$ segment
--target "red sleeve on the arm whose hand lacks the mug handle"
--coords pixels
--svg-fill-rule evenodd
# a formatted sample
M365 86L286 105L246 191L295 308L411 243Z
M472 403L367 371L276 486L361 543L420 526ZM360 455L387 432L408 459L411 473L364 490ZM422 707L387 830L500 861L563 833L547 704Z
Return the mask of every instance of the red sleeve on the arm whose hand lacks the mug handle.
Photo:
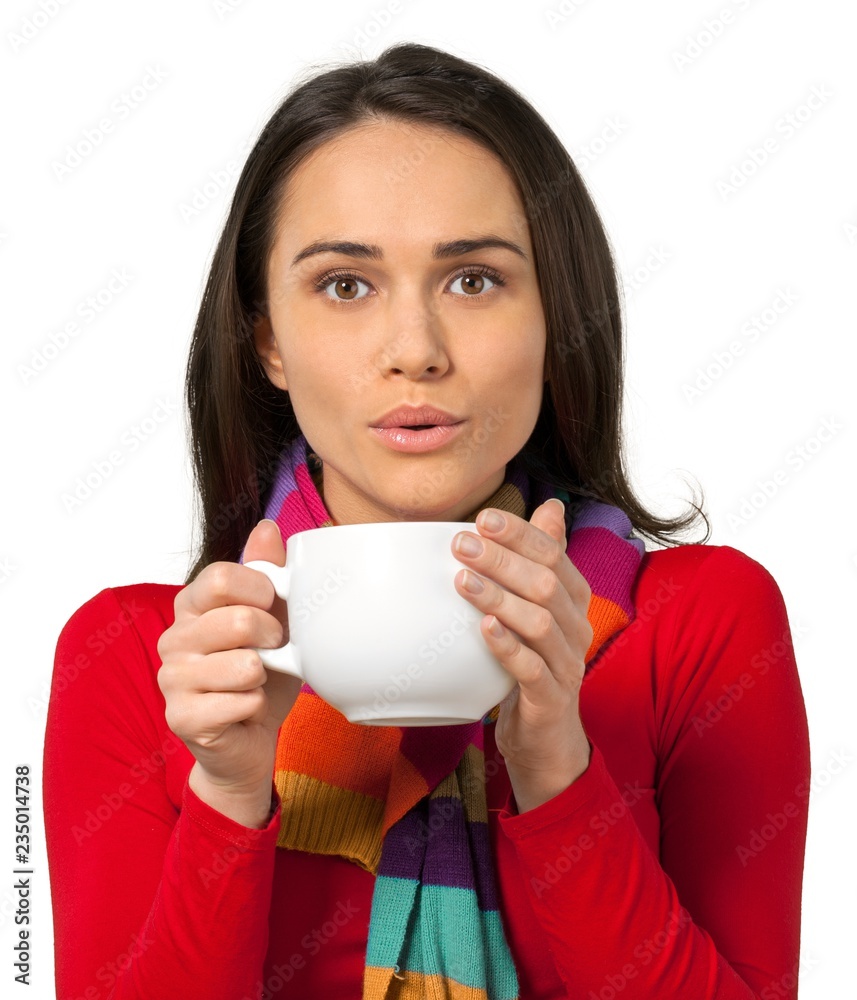
M794 1000L810 758L777 584L712 546L664 648L660 859L591 741L564 792L522 815L510 793L501 829L569 997Z

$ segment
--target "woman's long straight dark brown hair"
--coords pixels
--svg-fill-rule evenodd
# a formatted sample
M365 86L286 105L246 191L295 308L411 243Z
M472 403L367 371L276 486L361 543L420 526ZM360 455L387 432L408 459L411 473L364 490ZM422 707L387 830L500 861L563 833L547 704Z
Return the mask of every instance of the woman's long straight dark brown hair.
M457 132L495 153L518 185L547 327L542 407L520 459L531 476L628 515L663 545L697 517L646 510L623 459L623 328L616 267L586 186L550 126L509 84L473 63L414 43L311 76L277 107L251 150L217 244L185 378L202 536L185 583L235 561L264 513L283 447L299 433L289 395L262 366L254 322L267 314L266 272L281 195L320 145L368 121ZM418 147L415 145L415 160ZM411 165L412 168L412 165ZM401 165L405 179L409 165ZM389 178L388 178L389 180Z

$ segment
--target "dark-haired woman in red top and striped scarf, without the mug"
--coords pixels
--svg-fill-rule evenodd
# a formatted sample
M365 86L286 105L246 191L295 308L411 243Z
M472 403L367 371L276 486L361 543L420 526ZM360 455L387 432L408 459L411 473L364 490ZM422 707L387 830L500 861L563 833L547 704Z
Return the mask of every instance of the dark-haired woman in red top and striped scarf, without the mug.
M695 505L635 497L609 244L518 93L415 44L291 93L239 179L187 400L184 585L106 588L57 646L61 1000L797 995L783 599L741 552L676 542ZM517 682L500 706L352 725L263 666L288 609L244 562L430 520L481 542L454 583Z

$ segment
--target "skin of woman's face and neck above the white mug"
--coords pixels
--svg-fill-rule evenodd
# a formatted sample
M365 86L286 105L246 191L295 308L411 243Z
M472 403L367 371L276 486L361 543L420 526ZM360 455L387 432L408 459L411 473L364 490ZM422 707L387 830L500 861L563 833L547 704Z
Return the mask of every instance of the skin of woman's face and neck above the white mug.
M256 348L324 463L338 523L463 520L503 483L545 381L524 217L498 158L425 126L355 128L292 175ZM520 252L466 246L485 238ZM460 422L437 447L396 450L373 429L423 404Z

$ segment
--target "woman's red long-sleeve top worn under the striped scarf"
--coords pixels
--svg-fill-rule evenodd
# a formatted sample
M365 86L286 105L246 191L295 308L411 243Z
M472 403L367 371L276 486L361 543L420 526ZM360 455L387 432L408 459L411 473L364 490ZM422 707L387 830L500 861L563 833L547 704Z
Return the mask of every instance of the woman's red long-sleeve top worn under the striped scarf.
M44 809L59 1000L359 1000L374 876L190 790L156 644L181 589L102 590L56 650ZM521 1000L797 996L809 740L780 590L730 546L647 553L591 662L587 770L517 813L486 727Z

